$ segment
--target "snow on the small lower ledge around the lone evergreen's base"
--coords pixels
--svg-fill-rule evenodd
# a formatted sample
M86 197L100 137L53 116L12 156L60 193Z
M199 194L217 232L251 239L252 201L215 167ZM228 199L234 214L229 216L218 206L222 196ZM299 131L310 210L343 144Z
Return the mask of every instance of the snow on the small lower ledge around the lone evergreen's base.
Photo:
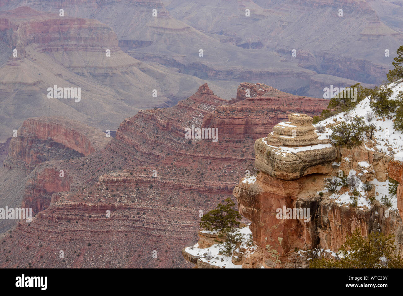
M252 235L252 232L249 229L249 225L243 227L243 228L238 228L235 230L234 233L239 233L242 235L242 243L241 247L245 249L249 249L250 253L255 251L257 249L256 245L252 246L247 246L247 242L249 240L249 235ZM210 232L208 230L204 230L205 232ZM211 232L213 233L213 232ZM218 254L220 252L220 244L216 243L212 245L211 247L205 248L205 249L200 249L199 244L196 243L195 245L191 247L185 248L185 251L193 256L198 256L202 259L202 261L209 263L210 265L214 266L219 266L222 268L242 268L242 265L235 265L232 263L231 256L226 256L226 255L220 255ZM235 249L237 251L238 249ZM210 255L211 259L209 260L207 257Z

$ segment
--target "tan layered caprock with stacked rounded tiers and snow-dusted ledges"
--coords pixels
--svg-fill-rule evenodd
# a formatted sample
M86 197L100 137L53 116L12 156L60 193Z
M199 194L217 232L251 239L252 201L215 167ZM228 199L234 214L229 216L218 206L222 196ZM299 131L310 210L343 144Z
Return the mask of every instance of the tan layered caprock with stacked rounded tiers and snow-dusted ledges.
M329 173L337 150L328 140L318 140L312 117L290 114L266 138L255 142L258 169L284 180L298 179L312 173Z

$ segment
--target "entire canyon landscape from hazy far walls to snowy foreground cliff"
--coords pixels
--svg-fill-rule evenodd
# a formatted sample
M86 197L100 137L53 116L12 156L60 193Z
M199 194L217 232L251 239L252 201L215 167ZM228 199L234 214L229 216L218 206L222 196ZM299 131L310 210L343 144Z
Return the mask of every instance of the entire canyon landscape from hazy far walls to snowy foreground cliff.
M368 98L312 124L325 87L382 82L402 12L395 0L2 0L0 208L34 218L0 219L0 267L307 268L337 260L355 229L395 234L403 255L393 118L367 117L379 129L354 148L331 128L372 112ZM56 85L80 99L51 98ZM194 128L216 138L186 137ZM344 176L357 196L328 189ZM199 228L226 198L243 217L229 256Z

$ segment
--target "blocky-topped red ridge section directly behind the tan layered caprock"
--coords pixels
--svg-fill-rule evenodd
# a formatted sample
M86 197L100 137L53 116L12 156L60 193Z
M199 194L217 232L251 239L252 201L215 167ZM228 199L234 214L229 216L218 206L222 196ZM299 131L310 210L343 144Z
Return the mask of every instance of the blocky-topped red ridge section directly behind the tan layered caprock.
M245 97L246 89L250 89L250 98ZM229 140L261 138L267 136L278 122L288 119L289 113L314 116L326 109L328 103L325 99L284 93L261 83L243 82L238 87L237 98L207 114L203 126L218 127L222 137Z

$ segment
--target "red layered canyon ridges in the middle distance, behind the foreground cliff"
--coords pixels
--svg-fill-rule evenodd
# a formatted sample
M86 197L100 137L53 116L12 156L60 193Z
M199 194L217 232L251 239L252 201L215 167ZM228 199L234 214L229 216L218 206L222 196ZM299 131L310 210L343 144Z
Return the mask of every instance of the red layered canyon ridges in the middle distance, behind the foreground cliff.
M253 171L254 140L290 109L316 115L327 102L246 82L228 101L203 84L174 107L126 118L114 138L72 119L27 119L10 141L0 196L34 218L0 221L0 266L191 267L181 249L196 240L200 213ZM186 127L216 124L218 142L184 137Z

